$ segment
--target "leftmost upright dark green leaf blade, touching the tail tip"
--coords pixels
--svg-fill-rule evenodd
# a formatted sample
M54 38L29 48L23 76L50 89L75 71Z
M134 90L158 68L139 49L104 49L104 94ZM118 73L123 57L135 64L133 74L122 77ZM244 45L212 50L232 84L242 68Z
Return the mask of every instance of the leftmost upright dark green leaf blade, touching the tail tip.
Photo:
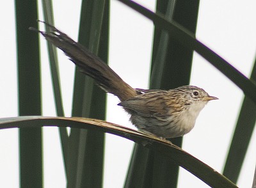
M29 27L38 27L37 1L15 1L17 30L17 70L19 114L41 114L41 80L38 35ZM42 187L42 129L19 130L20 187ZM36 166L36 168L35 168Z

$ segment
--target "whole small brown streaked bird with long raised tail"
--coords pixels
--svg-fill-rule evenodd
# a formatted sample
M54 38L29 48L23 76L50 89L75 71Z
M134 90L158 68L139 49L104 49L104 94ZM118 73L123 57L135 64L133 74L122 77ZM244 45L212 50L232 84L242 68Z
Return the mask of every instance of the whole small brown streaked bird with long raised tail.
M51 24L41 22L51 27L52 31L39 31L34 27L29 29L39 32L65 52L81 72L92 77L102 90L118 97L118 106L130 114L131 123L145 134L160 139L184 136L195 126L196 118L205 104L218 99L197 86L180 86L172 90L132 88L86 47Z

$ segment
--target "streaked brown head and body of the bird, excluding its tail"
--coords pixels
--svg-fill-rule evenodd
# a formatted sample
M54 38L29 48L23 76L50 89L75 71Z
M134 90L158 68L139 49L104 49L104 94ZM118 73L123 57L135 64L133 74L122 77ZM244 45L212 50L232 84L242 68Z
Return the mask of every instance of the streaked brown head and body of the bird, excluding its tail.
M182 86L168 91L137 91L142 94L118 105L132 111L130 120L140 130L164 138L187 134L193 129L205 104L217 99L196 86Z

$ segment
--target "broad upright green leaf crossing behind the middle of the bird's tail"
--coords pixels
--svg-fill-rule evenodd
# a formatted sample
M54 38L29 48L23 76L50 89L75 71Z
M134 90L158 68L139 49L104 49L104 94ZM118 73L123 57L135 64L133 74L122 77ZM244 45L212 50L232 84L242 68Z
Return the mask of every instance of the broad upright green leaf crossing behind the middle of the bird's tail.
M79 43L88 47L94 54L98 54L100 49L100 53L103 55L102 59L105 61L108 59L108 35L102 35L102 37L100 34L103 24L104 31L107 31L108 34L108 17L108 1L83 1ZM100 43L100 37L107 43ZM72 116L104 119L105 101L106 93L100 91L99 88L95 88L92 78L84 76L76 68ZM72 178L68 182L68 187L74 187L75 185L77 187L101 187L104 134L93 130L71 129L70 140L70 156L74 153L76 155L73 155L74 157L70 161Z

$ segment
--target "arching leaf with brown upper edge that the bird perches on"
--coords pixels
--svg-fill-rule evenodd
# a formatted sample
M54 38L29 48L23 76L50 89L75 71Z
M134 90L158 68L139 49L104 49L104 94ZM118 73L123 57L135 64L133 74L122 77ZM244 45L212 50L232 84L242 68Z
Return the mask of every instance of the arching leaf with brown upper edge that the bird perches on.
M13 118L0 118L0 129L25 127L71 127L77 129L90 129L121 136L135 143L141 144L151 150L170 157L179 166L188 170L211 187L237 187L225 176L196 159L178 146L152 137L138 130L129 129L107 121L90 118L64 118L44 116L19 116Z

